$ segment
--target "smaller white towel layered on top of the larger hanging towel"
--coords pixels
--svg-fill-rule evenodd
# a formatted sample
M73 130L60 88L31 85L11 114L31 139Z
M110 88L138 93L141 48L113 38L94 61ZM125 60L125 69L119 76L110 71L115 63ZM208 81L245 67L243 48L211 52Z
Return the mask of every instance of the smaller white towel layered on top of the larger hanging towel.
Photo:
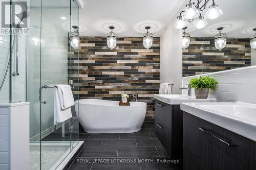
M59 84L57 85L59 102L62 109L67 109L75 105L74 97L70 85Z

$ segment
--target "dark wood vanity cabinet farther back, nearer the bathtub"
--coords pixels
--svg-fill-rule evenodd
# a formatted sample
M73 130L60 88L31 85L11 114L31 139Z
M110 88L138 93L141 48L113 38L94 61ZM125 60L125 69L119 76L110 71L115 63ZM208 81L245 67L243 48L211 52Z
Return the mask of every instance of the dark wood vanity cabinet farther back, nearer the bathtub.
M182 159L182 111L180 105L155 100L155 133L172 159Z

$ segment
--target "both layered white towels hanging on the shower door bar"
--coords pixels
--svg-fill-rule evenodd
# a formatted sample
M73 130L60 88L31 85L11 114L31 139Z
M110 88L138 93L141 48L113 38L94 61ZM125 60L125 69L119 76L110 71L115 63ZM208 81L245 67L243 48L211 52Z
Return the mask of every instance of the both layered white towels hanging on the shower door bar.
M70 85L57 85L54 89L53 124L64 122L72 117L71 106L75 104Z

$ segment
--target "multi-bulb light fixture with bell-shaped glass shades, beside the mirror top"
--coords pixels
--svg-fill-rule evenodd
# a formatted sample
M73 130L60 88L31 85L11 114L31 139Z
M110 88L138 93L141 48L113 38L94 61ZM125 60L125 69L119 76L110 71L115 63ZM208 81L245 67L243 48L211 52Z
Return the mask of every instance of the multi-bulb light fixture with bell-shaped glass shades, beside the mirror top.
M223 11L219 8L217 4L215 4L214 0L212 0L212 4L209 6L208 10L202 16L201 12L206 9L207 4L210 0L205 0L202 4L203 0L196 0L197 4L191 3L186 5L185 11L181 11L180 15L177 16L177 21L174 25L176 29L183 29L188 26L189 22L193 22L196 19L193 27L195 29L202 29L208 25L207 19L217 19L222 14Z

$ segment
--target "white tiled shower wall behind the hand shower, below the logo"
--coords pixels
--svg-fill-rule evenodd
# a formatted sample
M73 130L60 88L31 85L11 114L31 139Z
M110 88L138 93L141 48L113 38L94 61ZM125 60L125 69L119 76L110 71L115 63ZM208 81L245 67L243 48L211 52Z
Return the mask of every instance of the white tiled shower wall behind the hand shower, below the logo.
M9 56L9 35L0 35L0 83L2 83ZM26 36L19 35L19 76L12 77L12 101L25 101L25 81L26 81ZM12 59L12 68L15 71L15 57ZM9 71L4 86L0 90L0 103L9 102Z

